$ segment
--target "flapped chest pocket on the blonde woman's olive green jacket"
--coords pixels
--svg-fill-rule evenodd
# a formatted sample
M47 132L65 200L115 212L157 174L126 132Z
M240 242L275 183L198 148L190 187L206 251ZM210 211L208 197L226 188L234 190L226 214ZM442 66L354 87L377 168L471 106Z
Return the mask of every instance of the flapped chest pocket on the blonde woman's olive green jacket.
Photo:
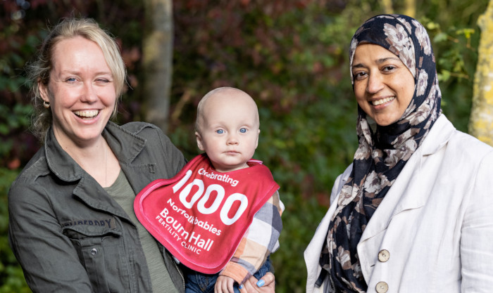
M130 288L129 264L120 228L77 225L63 228L80 263L85 267L93 292L127 292Z

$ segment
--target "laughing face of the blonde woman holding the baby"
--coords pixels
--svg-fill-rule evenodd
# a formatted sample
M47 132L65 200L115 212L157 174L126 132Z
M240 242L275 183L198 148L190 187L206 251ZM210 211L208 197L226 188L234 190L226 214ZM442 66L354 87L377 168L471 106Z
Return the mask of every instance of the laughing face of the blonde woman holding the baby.
M53 129L64 147L82 147L102 138L116 103L111 70L101 48L84 37L60 41L53 50L47 86L39 84L50 103Z

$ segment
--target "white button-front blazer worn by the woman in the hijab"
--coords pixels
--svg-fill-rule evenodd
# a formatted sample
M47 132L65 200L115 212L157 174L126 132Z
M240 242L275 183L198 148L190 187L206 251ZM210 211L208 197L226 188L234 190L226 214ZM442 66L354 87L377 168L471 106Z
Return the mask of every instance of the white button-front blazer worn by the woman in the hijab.
M306 292L315 282L337 197L304 252ZM493 292L493 148L440 115L376 209L358 243L368 292ZM379 255L380 254L380 255ZM379 260L380 259L380 260Z

